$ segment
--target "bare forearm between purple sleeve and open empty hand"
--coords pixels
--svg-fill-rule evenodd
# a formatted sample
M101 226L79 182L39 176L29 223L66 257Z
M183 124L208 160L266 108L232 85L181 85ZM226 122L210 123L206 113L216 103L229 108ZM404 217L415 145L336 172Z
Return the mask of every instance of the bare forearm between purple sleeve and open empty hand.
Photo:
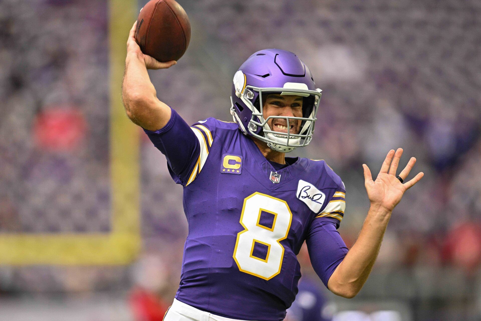
M378 257L391 213L371 205L357 241L329 279L329 290L345 297L361 290Z

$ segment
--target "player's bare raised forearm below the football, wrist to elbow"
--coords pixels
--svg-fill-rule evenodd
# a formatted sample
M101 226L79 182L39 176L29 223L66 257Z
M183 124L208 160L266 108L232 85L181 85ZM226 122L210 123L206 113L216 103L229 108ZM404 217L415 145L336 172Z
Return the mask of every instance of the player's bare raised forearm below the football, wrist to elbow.
M127 54L122 99L127 116L143 128L163 128L170 118L170 108L157 99L145 63L136 53Z

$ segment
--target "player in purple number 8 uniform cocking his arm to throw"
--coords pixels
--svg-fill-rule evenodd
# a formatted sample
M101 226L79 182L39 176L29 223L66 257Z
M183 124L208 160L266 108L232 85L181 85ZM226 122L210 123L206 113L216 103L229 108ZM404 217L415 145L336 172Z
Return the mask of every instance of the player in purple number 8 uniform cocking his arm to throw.
M157 99L147 69L163 69L127 41L122 95L127 116L167 158L183 186L189 223L181 280L165 321L280 321L297 294L296 255L307 244L312 266L336 295L351 298L366 282L392 210L423 176L396 176L403 150L391 150L376 180L364 167L370 208L348 251L337 228L345 187L324 160L286 157L309 144L319 108L309 68L294 53L253 53L235 73L230 113L189 126Z

